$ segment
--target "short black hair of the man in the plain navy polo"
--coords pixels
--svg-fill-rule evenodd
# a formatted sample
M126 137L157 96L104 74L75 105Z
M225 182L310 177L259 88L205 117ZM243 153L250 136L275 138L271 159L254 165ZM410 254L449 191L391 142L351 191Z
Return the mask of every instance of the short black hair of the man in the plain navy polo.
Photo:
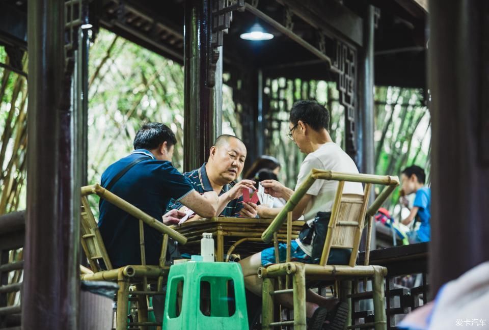
M141 127L136 133L133 146L134 150L154 150L159 148L159 146L164 142L167 143L168 148L177 143L175 134L172 132L170 127L161 123L148 123L144 124L143 127Z

